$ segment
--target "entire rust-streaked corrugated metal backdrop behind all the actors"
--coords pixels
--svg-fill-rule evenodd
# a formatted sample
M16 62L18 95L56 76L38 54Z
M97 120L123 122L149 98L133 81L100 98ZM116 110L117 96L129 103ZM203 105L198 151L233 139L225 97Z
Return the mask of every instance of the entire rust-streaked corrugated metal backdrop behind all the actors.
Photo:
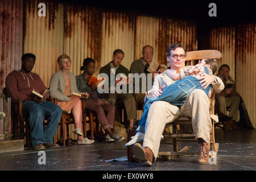
M38 16L38 4L45 3L46 17ZM24 17L23 17L24 7ZM154 60L166 64L166 48L182 43L187 51L197 49L197 36L203 36L200 49L218 49L229 64L237 90L245 100L251 121L256 127L255 104L255 23L244 26L212 28L197 35L197 23L159 16L112 11L75 3L55 1L0 1L1 90L7 74L20 69L22 53L36 55L33 72L40 75L46 86L59 67L57 57L63 53L72 59L72 70L79 75L86 57L96 60L96 72L109 63L114 49L125 52L123 65L142 56L142 47L154 47ZM24 21L24 30L23 30ZM24 32L24 38L22 35ZM23 51L22 51L23 46ZM238 69L239 68L239 69Z

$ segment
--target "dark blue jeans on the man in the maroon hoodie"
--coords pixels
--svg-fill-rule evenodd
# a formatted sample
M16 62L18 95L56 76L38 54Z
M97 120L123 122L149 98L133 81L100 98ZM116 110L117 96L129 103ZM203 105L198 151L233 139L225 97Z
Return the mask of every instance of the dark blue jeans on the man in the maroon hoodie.
M30 123L32 145L38 143L53 143L53 137L60 122L62 109L49 101L40 104L34 101L24 101L22 113L27 115ZM47 126L43 127L44 117Z

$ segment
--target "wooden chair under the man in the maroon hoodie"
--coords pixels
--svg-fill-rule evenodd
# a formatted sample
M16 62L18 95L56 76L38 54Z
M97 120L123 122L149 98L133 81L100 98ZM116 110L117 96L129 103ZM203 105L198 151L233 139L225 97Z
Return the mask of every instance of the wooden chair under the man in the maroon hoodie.
M3 88L3 94L6 98L9 97L6 88ZM51 102L54 100L51 98ZM11 119L13 121L13 139L20 139L19 135L22 135L24 139L24 145L31 149L31 132L28 122L28 116L22 113L22 100L11 100ZM45 118L46 119L46 118ZM45 126L46 123L44 122ZM53 142L56 143L56 137L53 137Z

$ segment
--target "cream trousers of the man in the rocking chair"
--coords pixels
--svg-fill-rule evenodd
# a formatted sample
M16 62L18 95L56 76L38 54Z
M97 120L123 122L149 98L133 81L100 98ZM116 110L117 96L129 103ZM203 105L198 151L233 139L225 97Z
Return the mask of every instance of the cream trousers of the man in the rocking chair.
M156 158L164 127L180 115L191 117L193 133L196 139L203 138L205 142L209 143L210 131L212 130L209 108L209 98L200 89L193 90L184 105L181 106L181 109L166 101L154 102L148 111L143 147L149 147Z

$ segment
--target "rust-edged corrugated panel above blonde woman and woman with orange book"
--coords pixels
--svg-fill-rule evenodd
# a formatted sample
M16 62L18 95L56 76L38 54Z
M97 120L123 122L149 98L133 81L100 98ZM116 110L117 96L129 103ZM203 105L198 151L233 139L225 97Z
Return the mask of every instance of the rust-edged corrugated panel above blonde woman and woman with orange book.
M86 57L101 59L101 11L94 7L75 4L64 5L64 50L72 59L71 72L80 75Z

